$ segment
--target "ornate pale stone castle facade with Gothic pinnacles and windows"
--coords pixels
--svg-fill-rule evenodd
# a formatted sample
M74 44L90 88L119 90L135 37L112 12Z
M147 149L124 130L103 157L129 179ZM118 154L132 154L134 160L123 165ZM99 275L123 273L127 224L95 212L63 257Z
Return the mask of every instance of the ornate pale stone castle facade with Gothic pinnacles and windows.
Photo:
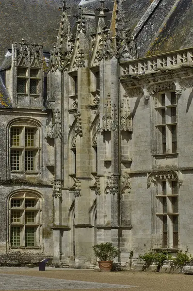
M130 251L193 253L193 48L143 54L137 37L159 2L131 31L122 0L110 22L105 1L82 3L74 28L63 0L50 54L25 39L7 51L0 253L77 268L96 264L100 242L124 266Z

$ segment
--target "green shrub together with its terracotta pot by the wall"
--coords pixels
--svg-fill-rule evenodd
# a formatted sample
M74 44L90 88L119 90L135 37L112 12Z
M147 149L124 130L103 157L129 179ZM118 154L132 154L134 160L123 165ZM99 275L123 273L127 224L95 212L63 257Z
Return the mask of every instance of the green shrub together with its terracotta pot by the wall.
M118 256L118 249L112 242L99 243L93 246L98 260L98 266L102 272L111 272L113 268L113 259Z

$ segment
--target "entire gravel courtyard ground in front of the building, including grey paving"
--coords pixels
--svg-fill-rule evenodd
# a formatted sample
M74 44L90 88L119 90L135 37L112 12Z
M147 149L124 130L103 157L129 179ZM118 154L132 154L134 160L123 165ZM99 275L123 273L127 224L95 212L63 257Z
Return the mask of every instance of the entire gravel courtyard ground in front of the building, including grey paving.
M148 272L0 267L0 291L186 291L193 290L193 276Z

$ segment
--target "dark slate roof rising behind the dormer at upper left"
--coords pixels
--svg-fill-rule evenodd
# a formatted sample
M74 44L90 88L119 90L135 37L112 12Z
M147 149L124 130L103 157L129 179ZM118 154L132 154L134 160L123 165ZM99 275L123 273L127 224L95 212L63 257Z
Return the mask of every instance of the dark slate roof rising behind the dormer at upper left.
M69 15L77 13L80 0L68 0ZM13 42L42 44L45 50L56 41L62 0L0 0L0 63ZM71 20L76 21L74 17Z

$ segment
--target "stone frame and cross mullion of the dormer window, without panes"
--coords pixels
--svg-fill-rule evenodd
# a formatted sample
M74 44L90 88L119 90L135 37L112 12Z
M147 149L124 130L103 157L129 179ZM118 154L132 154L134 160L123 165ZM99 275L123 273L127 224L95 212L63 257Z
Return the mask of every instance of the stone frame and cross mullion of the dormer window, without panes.
M24 74L19 74L19 71L25 70ZM36 76L32 76L32 71L37 71ZM41 74L41 69L39 67L27 67L27 66L18 66L17 67L17 85L16 85L16 92L18 95L24 95L24 96L40 96L41 94L41 87L40 87L40 74ZM24 92L18 92L18 80L23 80L25 81L25 90ZM31 92L31 81L36 82L36 92Z

